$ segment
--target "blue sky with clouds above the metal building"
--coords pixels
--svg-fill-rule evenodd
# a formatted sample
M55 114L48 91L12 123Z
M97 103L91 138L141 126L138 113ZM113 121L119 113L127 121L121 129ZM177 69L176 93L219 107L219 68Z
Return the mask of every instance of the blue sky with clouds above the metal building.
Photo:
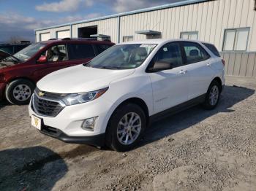
M182 0L0 0L0 42L34 41L34 29Z

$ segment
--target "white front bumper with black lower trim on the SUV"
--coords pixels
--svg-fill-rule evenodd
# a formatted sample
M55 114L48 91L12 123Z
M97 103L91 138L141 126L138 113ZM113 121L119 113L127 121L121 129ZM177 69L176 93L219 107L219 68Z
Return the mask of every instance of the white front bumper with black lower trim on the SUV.
M29 115L42 120L41 133L68 143L91 144L100 147L105 142L105 130L114 109L113 104L102 97L84 104L65 106L56 117L37 114L31 108L30 103ZM94 130L81 128L83 121L91 117L97 117Z

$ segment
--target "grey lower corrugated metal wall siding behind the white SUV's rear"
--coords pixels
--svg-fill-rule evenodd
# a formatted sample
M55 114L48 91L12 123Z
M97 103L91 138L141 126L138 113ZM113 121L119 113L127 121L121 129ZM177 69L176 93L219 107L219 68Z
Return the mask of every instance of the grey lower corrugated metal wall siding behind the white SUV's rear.
M222 52L221 55L226 61L226 75L256 77L256 52Z

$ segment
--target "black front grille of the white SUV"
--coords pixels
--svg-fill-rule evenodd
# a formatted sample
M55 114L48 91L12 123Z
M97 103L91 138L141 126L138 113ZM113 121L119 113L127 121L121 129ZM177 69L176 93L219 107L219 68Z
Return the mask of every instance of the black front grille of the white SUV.
M60 101L50 100L48 98L39 98L37 93L34 93L32 98L32 108L34 112L46 117L56 117L64 108L64 104Z

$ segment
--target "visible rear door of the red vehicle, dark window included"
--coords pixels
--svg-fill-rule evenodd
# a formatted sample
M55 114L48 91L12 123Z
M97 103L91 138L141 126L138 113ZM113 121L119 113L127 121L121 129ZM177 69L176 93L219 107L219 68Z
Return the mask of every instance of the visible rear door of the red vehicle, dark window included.
M71 66L80 63L87 63L96 55L92 44L67 44L67 50L69 55L69 65Z

